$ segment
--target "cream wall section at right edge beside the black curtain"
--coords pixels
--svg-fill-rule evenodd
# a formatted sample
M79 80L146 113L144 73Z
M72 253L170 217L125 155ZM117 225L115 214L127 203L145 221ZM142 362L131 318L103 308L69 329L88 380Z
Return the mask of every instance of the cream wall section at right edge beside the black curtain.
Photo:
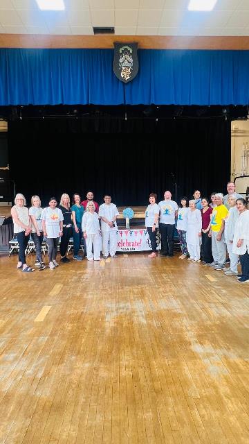
M231 180L237 176L242 176L242 152L243 144L248 143L249 149L249 120L234 120L231 123ZM249 176L249 153L248 153L248 168L247 175ZM240 194L246 194L246 188L249 187L249 177L238 178L236 180L236 191Z

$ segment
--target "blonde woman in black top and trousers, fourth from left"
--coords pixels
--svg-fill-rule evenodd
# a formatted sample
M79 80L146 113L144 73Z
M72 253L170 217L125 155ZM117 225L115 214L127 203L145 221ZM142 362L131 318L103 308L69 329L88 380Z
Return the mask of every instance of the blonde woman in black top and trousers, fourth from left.
M59 206L59 210L62 210L63 214L63 236L61 237L61 243L59 245L59 253L61 254L61 262L66 264L70 262L70 259L66 257L68 250L69 239L73 236L72 230L72 212L70 208L70 198L68 194L62 194Z

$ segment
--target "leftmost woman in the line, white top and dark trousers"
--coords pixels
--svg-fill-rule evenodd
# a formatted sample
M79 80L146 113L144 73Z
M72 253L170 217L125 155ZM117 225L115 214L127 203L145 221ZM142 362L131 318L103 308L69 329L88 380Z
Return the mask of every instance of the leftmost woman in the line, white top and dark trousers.
M15 205L11 208L11 215L14 223L14 234L19 244L17 268L22 268L25 273L30 273L35 270L26 264L25 251L28 246L31 224L28 208L26 207L26 198L23 194L18 193L15 196Z

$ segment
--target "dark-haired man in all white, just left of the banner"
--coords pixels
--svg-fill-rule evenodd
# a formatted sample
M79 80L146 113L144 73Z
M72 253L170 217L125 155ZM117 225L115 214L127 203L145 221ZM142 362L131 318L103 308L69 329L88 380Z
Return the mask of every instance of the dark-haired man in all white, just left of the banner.
M116 256L117 250L117 216L118 208L111 203L111 196L104 195L104 203L100 205L99 216L101 219L101 235L102 235L102 253L104 259L107 259L109 253L111 257Z

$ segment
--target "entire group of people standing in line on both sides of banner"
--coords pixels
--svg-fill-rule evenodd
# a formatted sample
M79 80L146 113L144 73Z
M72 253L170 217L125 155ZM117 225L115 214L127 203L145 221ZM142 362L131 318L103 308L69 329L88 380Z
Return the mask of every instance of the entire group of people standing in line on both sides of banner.
M249 281L249 211L246 201L235 192L234 182L227 184L228 194L212 193L210 199L201 198L195 190L193 198L181 198L179 206L172 200L170 191L165 191L164 200L156 203L157 196L149 195L149 205L145 212L145 226L151 241L152 252L149 258L156 257L156 234L160 230L161 254L174 255L174 232L178 231L181 246L181 259L201 262L215 270L224 270L225 275L237 275L239 282ZM26 264L25 251L30 235L35 244L36 262L39 270L44 270L42 241L48 244L49 268L56 268L59 244L60 261L70 262L66 256L68 243L73 235L73 259L82 260L79 255L83 239L84 252L89 261L100 260L100 250L107 258L116 257L118 208L111 203L111 196L104 195L104 203L98 205L93 200L93 191L88 191L86 200L80 194L73 195L70 204L68 194L62 194L59 205L51 197L48 207L42 209L39 196L31 198L31 207L26 207L22 194L15 197L11 214L14 232L19 243L17 268L25 273L35 271ZM59 243L60 239L60 243ZM102 244L102 245L101 245ZM225 267L228 253L230 267ZM238 275L238 262L242 273Z

